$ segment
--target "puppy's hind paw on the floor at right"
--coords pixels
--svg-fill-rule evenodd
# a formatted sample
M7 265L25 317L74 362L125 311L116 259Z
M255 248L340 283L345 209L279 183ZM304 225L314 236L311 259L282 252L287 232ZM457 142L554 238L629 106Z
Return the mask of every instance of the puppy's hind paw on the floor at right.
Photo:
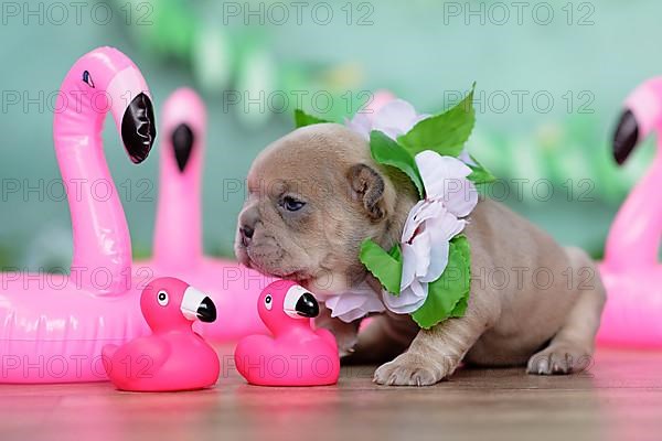
M590 352L569 344L552 344L528 358L526 372L536 375L573 374L588 368Z

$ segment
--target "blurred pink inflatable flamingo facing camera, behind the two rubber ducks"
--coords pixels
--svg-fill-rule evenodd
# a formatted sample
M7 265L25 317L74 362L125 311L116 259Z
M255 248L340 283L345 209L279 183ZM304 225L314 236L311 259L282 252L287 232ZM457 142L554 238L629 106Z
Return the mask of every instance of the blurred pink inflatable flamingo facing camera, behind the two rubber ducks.
M194 329L215 341L236 341L267 333L255 302L270 279L238 262L204 256L202 248L202 166L206 111L190 88L175 90L161 115L161 178L154 233L154 255L136 262L142 273L174 276L210 293L218 320L196 322Z

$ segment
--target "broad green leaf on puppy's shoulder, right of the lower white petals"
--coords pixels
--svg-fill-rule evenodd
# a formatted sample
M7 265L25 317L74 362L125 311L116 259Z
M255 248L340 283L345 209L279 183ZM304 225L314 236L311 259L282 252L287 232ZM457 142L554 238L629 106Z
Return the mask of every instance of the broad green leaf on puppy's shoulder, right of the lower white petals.
M428 330L449 318L462 316L467 311L471 287L471 250L465 235L450 241L448 266L441 277L428 286L428 297L412 318Z

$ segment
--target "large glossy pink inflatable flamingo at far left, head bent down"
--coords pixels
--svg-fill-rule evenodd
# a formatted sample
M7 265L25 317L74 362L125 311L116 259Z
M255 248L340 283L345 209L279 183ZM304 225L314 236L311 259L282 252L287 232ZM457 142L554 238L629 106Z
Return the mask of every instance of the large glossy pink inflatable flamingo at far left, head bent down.
M74 64L56 109L53 137L74 236L71 275L2 275L0 383L105 380L102 347L148 331L102 142L110 111L131 161L147 158L156 136L147 84L126 55L100 47Z

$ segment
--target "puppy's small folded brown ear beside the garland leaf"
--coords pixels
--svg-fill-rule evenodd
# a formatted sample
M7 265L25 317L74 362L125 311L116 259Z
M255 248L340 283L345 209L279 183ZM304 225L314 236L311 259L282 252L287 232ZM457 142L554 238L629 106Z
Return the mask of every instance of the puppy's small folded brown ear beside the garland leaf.
M383 219L386 216L384 178L366 164L354 164L348 171L348 180L352 198L362 203L369 217L373 220Z

